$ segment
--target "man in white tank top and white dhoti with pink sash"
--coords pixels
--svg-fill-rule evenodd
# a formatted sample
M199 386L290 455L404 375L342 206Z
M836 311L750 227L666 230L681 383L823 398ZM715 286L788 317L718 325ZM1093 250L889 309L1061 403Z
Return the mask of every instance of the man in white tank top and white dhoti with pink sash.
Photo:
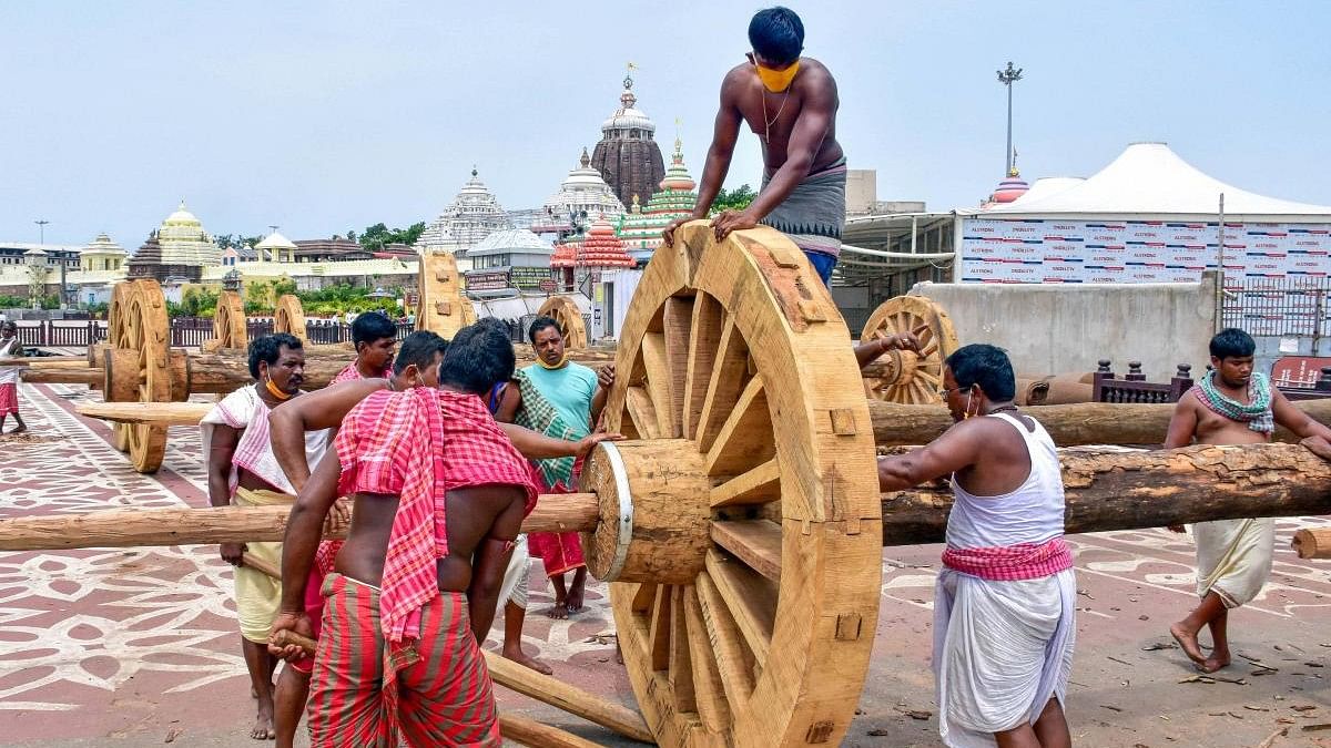
M952 476L934 592L938 731L960 747L1071 745L1062 704L1077 584L1054 442L1013 405L1016 377L1001 349L958 349L942 382L956 425L878 461L884 491Z

